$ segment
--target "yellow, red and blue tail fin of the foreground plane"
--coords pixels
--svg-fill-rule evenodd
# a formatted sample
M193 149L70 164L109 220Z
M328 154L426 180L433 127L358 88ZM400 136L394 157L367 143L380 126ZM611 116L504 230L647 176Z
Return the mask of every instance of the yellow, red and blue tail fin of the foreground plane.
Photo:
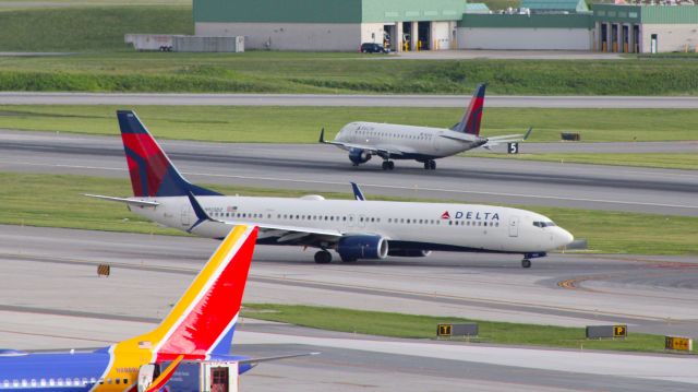
M236 226L165 320L112 346L113 357L143 349L151 351L153 363L228 355L256 237L256 227Z

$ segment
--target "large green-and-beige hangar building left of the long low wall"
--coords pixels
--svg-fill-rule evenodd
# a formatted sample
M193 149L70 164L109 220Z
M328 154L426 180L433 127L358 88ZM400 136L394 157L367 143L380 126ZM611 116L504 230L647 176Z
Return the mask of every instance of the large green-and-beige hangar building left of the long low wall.
M194 0L196 35L245 36L245 47L358 50L452 48L465 0Z

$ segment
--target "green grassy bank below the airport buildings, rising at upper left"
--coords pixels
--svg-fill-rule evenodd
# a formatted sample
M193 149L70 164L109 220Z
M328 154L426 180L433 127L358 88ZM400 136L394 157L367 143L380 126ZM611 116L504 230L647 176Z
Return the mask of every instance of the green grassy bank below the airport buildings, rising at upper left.
M127 33L192 34L191 4L29 4L0 7L0 51L79 55L0 58L0 91L467 94L489 82L495 94L698 94L698 62L673 59L394 61L360 54L134 52L123 44Z

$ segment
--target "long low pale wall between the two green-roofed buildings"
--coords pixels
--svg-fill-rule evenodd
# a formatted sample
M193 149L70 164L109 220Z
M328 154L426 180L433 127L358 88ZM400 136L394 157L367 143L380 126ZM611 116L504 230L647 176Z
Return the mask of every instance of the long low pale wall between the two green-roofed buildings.
M458 27L458 49L592 50L587 28Z

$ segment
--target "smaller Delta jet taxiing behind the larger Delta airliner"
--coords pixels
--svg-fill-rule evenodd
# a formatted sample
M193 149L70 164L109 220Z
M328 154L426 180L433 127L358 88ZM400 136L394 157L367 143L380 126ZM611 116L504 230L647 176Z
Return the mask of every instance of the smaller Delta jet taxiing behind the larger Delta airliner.
M434 170L437 158L455 155L464 151L491 147L528 139L525 134L504 136L480 136L480 122L484 109L485 85L476 88L470 104L460 121L450 129L399 126L393 123L351 122L346 124L334 141L325 140L325 129L320 132L320 143L334 144L349 152L353 166L366 163L377 155L383 159L383 169L395 168L396 159L414 159Z

